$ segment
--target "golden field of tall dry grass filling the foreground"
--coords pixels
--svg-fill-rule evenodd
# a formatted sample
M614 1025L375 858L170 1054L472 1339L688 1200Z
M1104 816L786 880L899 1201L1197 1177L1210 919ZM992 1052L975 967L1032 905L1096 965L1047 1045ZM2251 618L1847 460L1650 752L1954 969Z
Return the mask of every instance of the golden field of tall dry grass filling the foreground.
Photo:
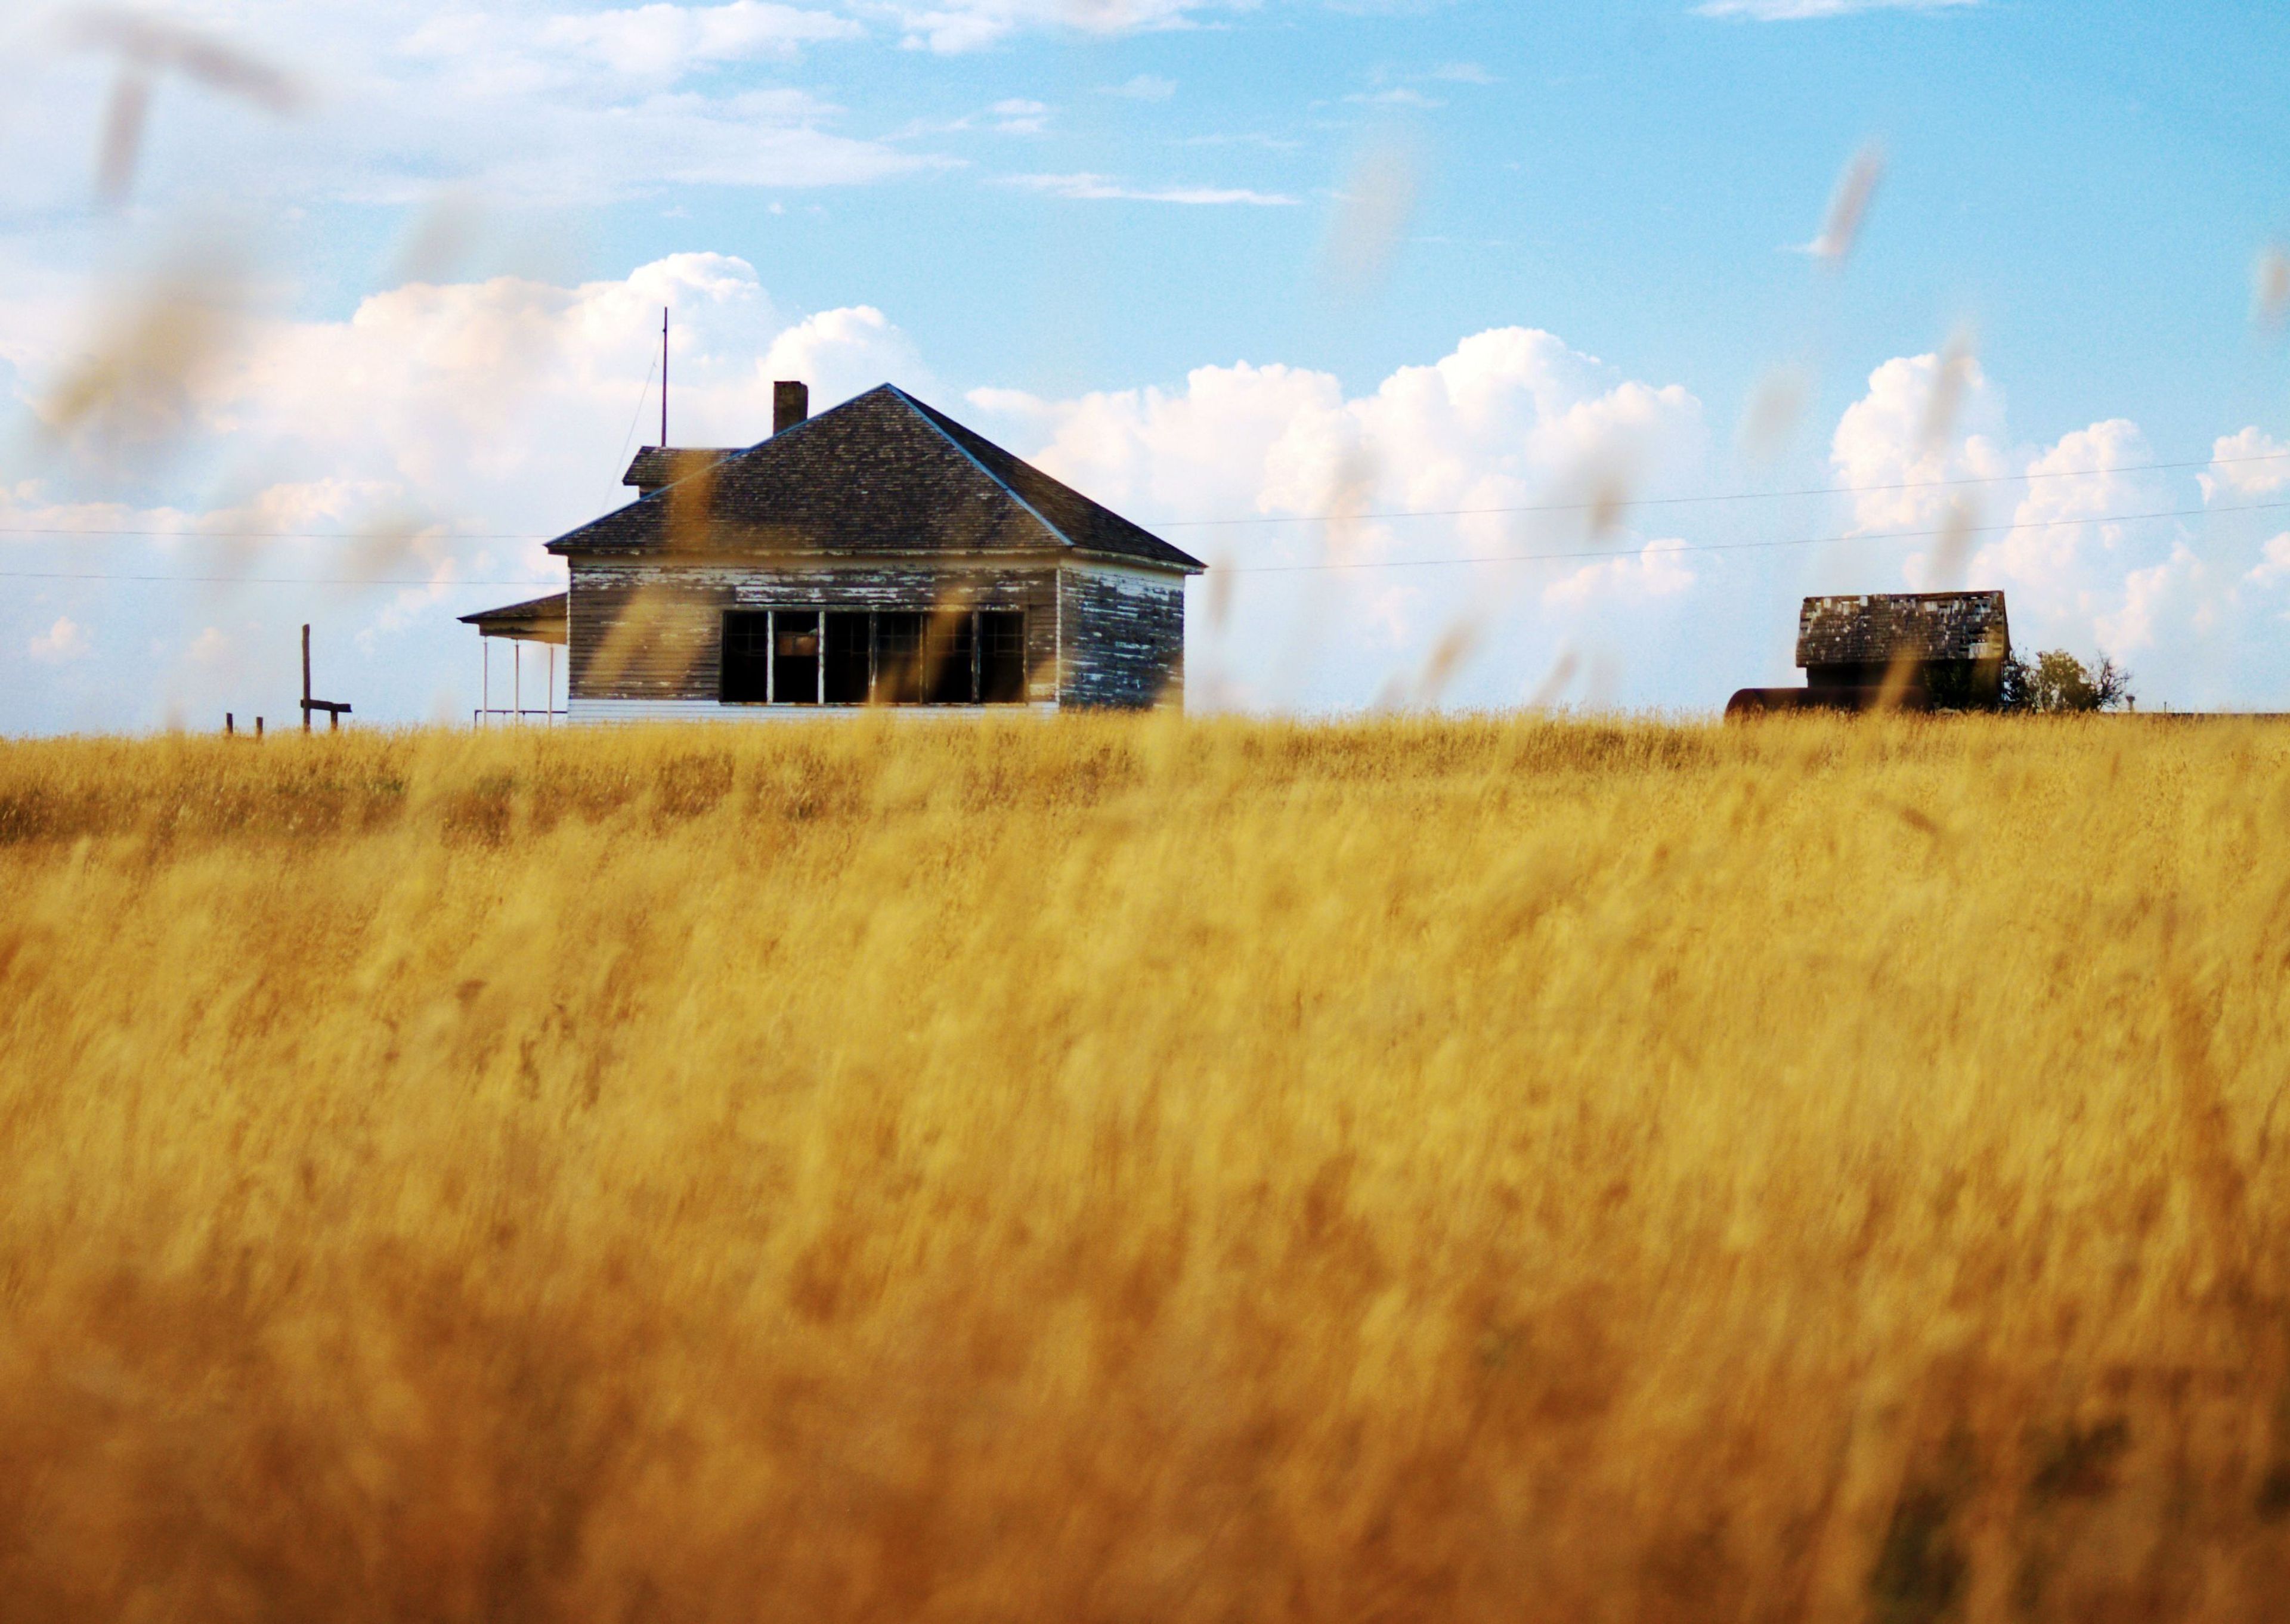
M7 1619L2290 1613L2290 728L0 747Z

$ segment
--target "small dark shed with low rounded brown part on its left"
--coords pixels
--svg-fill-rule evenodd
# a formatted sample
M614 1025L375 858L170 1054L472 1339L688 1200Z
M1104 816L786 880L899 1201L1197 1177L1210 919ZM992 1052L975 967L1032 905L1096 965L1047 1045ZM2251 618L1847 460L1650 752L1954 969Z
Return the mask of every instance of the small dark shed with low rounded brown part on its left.
M1745 687L1729 717L1763 710L1997 710L2011 625L1999 591L1807 598L1798 612L1805 687Z

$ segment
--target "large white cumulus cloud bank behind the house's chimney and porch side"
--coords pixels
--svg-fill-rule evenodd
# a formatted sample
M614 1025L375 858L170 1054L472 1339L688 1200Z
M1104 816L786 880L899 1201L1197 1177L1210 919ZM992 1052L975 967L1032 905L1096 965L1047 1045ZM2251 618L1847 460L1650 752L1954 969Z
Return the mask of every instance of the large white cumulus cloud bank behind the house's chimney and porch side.
M547 591L563 566L540 543L634 495L621 472L657 437L662 305L676 444L767 437L776 378L808 383L815 410L884 380L934 389L879 309L785 312L726 254L572 286L408 284L344 321L254 321L190 401L179 483L202 504L89 499L64 451L0 488L9 570L60 577L44 609L0 605L0 653L71 660L94 685L89 724L156 722L160 694L275 717L282 651L318 621L341 662L327 680L360 719L472 703L476 641L453 616ZM69 362L57 330L69 321L11 330L34 394ZM80 630L98 623L101 646ZM110 648L174 653L110 671ZM44 694L0 683L0 728L57 726Z

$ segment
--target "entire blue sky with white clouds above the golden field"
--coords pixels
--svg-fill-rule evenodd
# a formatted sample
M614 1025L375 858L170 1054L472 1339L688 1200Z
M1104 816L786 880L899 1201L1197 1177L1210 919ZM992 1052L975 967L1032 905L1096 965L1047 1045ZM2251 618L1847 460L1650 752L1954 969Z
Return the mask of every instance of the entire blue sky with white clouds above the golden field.
M891 376L1230 568L1202 708L1706 710L1788 678L1805 591L1910 584L2004 586L2146 703L2290 705L2272 7L14 27L7 731L275 715L305 618L360 717L465 715L451 616L614 499L662 300L678 440ZM1827 495L1699 502L1772 490Z

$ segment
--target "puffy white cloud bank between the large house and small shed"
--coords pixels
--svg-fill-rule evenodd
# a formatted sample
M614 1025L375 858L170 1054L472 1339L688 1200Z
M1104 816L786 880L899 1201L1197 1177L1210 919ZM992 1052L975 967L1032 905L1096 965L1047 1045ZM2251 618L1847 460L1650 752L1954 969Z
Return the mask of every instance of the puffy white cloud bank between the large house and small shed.
M1360 396L1234 364L1182 389L971 403L1012 449L1216 566L1191 667L1211 705L1498 703L1573 644L1644 671L1697 580L1683 543L1630 534L1628 499L1697 476L1701 403L1530 328ZM1587 492L1610 511L1573 504Z

